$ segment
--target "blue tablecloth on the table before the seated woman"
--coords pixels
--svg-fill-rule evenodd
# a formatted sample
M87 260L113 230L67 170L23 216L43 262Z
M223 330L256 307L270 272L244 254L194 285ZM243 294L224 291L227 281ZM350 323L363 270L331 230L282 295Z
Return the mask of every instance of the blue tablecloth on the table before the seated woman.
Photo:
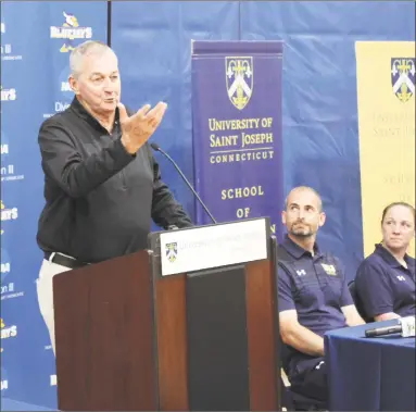
M415 337L365 337L366 329L396 323L326 334L330 411L416 411Z

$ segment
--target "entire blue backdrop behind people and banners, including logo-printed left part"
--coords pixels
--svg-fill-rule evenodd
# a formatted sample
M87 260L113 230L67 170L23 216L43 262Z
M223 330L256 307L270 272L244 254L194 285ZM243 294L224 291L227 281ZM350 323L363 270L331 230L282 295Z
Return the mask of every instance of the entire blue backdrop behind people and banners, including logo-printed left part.
M286 192L300 184L320 191L328 221L319 239L352 278L363 258L354 42L414 40L414 2L393 1L114 2L112 46L123 101L133 109L167 101L153 139L193 182L190 40L283 40L285 172L276 179ZM89 36L105 41L106 24L103 1L1 3L1 395L50 408L54 359L35 290L37 133L72 99L68 50ZM157 159L193 216L191 193Z

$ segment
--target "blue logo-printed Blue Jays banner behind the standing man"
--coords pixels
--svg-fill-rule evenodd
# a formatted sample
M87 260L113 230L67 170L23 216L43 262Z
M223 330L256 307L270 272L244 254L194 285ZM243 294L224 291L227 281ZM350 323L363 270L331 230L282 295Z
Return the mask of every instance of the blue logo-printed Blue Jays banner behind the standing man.
M56 408L55 361L39 312L40 124L64 110L71 50L106 41L106 2L1 2L1 396Z

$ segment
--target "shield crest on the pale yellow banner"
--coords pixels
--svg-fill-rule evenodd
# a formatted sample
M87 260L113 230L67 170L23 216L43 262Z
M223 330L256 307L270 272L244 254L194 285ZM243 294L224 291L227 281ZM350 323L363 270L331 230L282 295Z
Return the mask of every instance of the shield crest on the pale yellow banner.
M415 59L391 59L391 84L396 98L405 103L415 93Z

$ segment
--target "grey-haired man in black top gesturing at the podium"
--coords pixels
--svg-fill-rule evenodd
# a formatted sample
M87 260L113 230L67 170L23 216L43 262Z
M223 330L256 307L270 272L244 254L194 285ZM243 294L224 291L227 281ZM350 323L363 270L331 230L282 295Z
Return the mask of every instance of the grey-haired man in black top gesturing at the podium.
M152 219L164 228L192 225L148 145L166 104L129 115L121 103L117 58L104 43L79 45L70 66L75 98L39 130L46 205L37 291L53 351L54 275L146 249Z

